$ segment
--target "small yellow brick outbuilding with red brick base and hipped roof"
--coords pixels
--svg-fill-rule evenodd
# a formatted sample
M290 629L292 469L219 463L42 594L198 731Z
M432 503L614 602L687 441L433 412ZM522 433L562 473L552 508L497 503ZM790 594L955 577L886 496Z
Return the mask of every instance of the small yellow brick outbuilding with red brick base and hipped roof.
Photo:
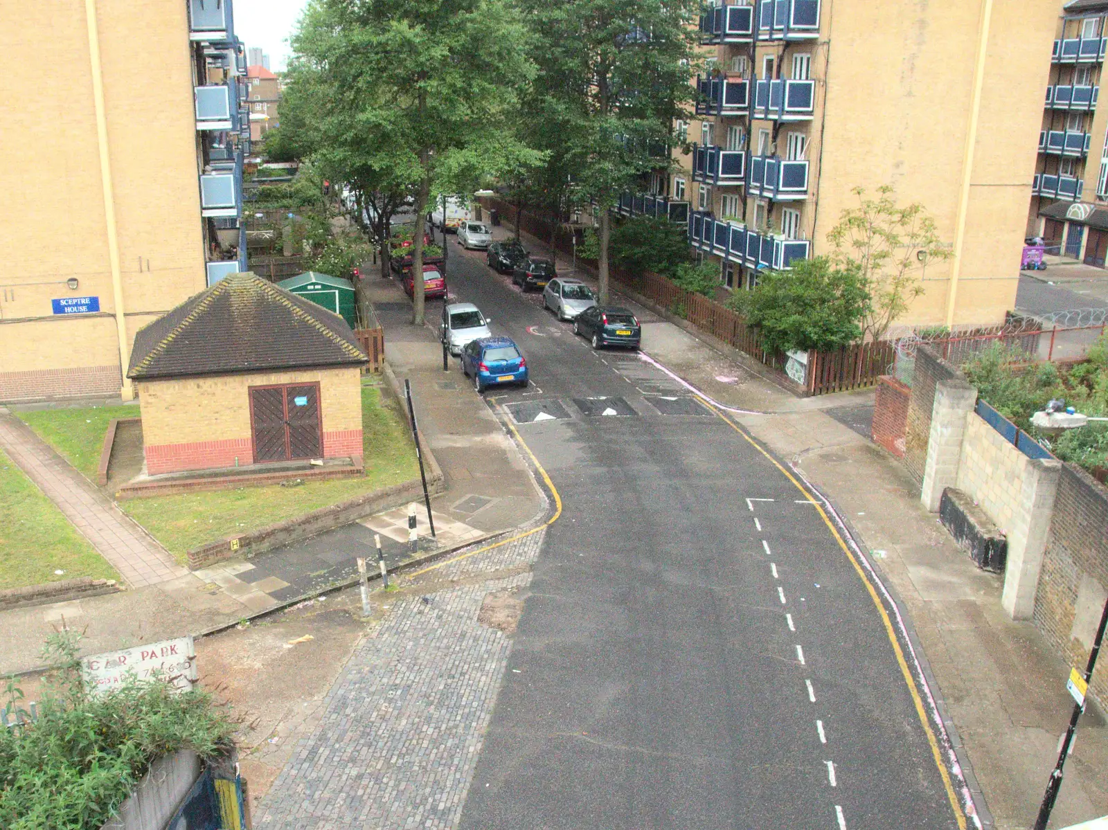
M360 462L361 368L347 322L254 274L135 336L127 377L151 475L301 459Z

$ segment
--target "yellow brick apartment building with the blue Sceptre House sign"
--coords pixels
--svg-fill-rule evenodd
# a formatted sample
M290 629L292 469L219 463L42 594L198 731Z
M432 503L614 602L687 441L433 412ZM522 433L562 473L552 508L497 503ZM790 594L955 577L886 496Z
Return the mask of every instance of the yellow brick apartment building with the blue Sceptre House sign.
M130 399L135 332L247 267L230 2L3 3L0 49L0 401Z

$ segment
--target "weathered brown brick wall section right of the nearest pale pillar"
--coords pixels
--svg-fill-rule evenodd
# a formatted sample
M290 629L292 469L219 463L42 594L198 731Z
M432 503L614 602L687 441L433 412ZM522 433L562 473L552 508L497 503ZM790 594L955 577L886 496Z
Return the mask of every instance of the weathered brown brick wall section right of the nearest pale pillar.
M1067 463L1057 481L1033 618L1078 670L1085 669L1106 596L1108 490ZM1099 660L1089 691L1108 709L1108 660Z

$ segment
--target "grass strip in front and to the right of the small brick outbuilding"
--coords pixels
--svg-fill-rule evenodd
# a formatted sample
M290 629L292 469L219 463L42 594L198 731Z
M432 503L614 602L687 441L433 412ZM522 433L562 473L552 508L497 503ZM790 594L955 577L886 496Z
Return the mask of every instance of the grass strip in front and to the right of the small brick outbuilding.
M366 475L278 485L213 490L155 499L132 499L120 506L178 560L207 542L258 530L362 493L419 475L416 450L400 413L382 406L378 387L361 388Z

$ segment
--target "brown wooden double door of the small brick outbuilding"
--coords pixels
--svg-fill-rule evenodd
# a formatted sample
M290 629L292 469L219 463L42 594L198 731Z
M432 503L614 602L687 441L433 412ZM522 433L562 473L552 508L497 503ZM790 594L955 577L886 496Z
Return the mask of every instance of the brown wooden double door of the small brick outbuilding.
M254 463L322 455L319 383L250 387Z

